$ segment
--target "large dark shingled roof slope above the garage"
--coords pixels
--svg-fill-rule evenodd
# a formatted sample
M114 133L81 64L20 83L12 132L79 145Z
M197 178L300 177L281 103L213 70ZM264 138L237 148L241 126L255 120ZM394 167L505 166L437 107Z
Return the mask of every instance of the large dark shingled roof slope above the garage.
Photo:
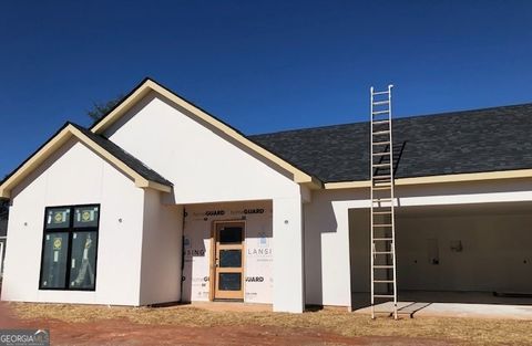
M392 135L396 178L532 168L532 104L396 118ZM369 123L248 137L324 182L369 179Z

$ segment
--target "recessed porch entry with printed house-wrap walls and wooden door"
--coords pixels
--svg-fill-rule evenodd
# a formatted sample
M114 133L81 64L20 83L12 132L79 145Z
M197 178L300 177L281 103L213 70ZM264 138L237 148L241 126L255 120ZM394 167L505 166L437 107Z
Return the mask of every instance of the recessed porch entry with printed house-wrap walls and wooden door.
M182 301L272 304L272 200L184 209Z

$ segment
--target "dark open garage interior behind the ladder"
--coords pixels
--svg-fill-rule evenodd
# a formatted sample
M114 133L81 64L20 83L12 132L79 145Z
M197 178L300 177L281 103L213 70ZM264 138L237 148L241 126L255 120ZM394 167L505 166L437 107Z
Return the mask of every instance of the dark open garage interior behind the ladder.
M349 210L354 311L370 306L369 226L369 209ZM396 253L405 312L432 303L532 304L530 202L396 207Z

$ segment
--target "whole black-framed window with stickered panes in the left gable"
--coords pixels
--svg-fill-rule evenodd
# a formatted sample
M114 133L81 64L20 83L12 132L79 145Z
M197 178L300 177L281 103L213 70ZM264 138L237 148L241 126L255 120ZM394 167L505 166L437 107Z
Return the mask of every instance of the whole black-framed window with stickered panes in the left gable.
M100 206L44 211L40 290L94 291Z

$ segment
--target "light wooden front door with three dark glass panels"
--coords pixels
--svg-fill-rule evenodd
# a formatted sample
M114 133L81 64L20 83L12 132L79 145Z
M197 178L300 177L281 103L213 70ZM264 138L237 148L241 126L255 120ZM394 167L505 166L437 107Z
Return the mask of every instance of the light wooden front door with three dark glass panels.
M242 221L215 223L215 300L244 300L244 226Z

